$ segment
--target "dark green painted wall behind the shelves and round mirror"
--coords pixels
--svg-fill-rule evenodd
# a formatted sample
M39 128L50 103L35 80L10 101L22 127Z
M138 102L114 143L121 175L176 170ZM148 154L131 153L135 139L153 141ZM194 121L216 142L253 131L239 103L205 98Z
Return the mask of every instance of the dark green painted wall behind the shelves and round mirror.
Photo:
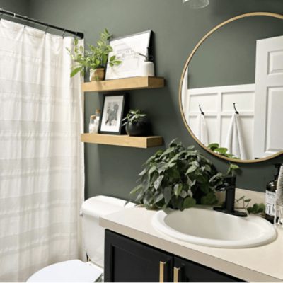
M178 137L185 145L195 141L180 115L178 86L183 65L193 47L214 25L238 14L283 13L282 0L211 0L207 8L199 11L190 10L181 0L29 0L28 4L33 18L82 31L86 42L96 42L103 28L108 28L115 37L153 30L156 75L166 78L166 87L130 91L130 107L149 113L154 134L163 136L166 144ZM101 95L86 93L86 129L88 117L101 102ZM141 164L156 150L86 144L86 197L103 194L127 198L136 185ZM204 154L219 170L226 171L226 161ZM241 165L238 187L263 192L272 178L275 162L283 162L282 156Z

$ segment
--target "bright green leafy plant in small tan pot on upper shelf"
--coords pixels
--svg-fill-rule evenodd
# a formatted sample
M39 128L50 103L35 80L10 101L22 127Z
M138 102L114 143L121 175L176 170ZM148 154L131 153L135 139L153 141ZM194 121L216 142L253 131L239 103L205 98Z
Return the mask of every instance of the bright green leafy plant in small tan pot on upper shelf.
M76 62L71 69L70 76L75 76L77 73L84 75L84 70L89 69L90 81L102 81L105 76L105 67L108 62L108 54L112 52L112 47L108 44L111 35L105 28L100 33L100 40L97 46L88 45L89 50L85 50L82 45L79 45L79 40L74 41L74 52L68 49L71 59ZM109 59L110 67L121 64L122 61L117 60L113 55Z

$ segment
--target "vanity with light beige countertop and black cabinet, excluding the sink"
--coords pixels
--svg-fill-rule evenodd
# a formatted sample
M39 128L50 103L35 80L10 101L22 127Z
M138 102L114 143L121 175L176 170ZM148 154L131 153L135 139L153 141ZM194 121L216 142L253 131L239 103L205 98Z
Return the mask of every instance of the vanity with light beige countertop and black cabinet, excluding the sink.
M282 282L282 229L264 246L213 248L157 231L155 214L133 207L100 217L107 229L105 281Z

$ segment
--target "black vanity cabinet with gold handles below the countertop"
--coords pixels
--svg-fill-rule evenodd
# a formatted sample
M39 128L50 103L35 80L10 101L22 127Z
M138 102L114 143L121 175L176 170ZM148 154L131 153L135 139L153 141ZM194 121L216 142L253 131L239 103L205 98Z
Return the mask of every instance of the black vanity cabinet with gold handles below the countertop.
M104 276L105 282L242 282L109 230Z

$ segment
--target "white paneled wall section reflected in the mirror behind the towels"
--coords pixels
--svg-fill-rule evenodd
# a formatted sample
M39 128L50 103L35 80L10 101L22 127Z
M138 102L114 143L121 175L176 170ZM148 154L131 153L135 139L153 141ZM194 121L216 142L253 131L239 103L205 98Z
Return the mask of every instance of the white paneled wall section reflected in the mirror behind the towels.
M209 144L217 142L224 146L229 123L235 112L233 103L236 103L240 114L248 158L253 159L255 84L188 89L183 97L183 110L187 124L195 132L200 104L207 122Z

